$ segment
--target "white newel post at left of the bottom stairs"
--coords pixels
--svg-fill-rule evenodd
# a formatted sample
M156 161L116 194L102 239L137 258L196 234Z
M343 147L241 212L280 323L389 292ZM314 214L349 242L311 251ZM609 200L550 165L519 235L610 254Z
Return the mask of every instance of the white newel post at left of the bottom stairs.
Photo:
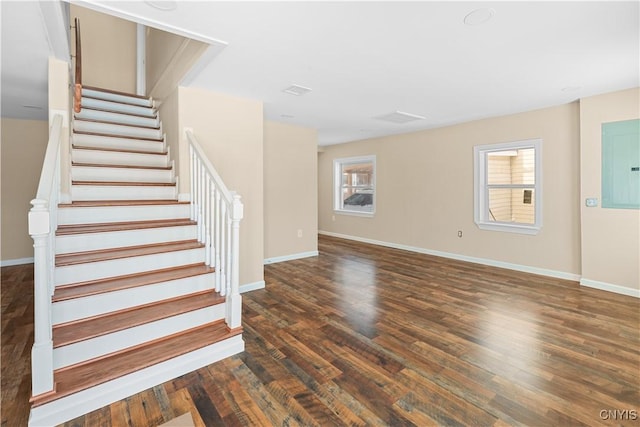
M37 396L53 390L53 341L51 339L51 292L49 282L49 231L46 200L34 199L29 211L29 234L34 258L34 343L31 349L31 388Z

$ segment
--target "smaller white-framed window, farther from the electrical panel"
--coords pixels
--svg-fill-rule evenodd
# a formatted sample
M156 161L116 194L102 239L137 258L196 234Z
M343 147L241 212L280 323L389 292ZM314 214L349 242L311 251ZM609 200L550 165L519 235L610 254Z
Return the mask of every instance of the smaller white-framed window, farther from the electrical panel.
M333 209L373 216L375 211L376 157L349 157L333 161Z

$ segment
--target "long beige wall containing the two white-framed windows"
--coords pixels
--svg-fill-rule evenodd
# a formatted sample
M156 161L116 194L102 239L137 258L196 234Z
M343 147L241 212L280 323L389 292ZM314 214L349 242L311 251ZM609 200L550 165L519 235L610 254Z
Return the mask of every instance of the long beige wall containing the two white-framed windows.
M473 221L473 146L533 138L543 139L542 230L530 236L478 229ZM369 154L377 156L375 216L334 213L333 159ZM328 146L318 159L320 230L571 277L580 274L577 103Z

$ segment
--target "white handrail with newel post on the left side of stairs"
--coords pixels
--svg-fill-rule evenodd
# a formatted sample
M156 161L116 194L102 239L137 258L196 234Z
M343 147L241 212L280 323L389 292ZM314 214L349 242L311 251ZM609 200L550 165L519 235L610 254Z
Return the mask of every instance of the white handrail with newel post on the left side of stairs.
M33 238L34 342L31 349L32 396L53 391L51 296L55 289L55 233L60 192L60 141L63 116L55 114L49 128L36 198L31 200L29 234Z

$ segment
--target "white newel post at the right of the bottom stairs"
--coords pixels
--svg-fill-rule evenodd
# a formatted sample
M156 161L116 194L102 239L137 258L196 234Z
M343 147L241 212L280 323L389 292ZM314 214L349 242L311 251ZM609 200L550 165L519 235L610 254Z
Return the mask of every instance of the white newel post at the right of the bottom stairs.
M242 296L240 295L240 220L244 207L240 196L233 194L231 205L231 289L227 294L227 326L230 329L242 326Z

